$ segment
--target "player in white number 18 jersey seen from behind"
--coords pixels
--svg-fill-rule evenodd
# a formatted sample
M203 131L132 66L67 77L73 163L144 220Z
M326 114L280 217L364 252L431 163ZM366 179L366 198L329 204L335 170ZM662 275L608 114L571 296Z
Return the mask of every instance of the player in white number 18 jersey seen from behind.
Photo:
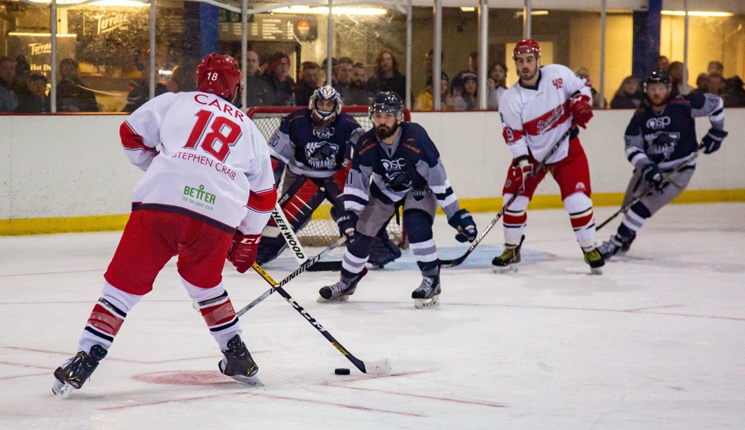
M241 273L251 267L276 203L267 142L233 104L240 94L238 63L209 54L197 68L196 92L160 95L121 124L121 144L145 174L78 352L54 371L54 393L66 396L89 379L173 256L223 352L221 373L260 384L222 282L226 258Z

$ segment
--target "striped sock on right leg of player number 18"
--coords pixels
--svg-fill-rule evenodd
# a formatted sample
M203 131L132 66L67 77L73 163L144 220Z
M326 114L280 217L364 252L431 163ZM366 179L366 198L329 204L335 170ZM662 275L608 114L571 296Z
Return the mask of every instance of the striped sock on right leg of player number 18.
M241 335L241 324L235 314L230 297L220 282L212 288L200 288L186 279L181 279L189 297L197 302L200 314L209 328L209 332L218 343L220 350L228 349L228 341Z

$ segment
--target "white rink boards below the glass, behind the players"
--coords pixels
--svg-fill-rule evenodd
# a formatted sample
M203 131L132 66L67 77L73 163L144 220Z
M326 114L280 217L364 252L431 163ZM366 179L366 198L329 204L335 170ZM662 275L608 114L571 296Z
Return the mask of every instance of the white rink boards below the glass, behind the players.
M631 166L623 135L631 110L596 111L580 140L593 192L624 192ZM130 210L142 175L118 137L127 116L0 116L0 219L118 215ZM510 151L496 112L412 113L437 144L460 198L499 197ZM702 156L688 189L745 189L745 109L726 110L729 137L711 158ZM700 118L700 136L708 130ZM558 195L546 180L536 195Z

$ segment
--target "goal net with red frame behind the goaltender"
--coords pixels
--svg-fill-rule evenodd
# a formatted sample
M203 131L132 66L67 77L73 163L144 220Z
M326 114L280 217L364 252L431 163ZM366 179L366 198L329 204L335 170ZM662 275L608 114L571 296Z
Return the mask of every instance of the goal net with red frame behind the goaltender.
M274 131L279 128L282 118L300 109L302 107L252 107L246 114L259 128L264 138L269 140ZM364 130L373 128L373 121L370 121L367 116L366 106L345 106L342 112L353 116ZM404 120L410 120L408 110L404 110ZM282 183L279 184L279 189L282 189ZM404 247L405 234L402 226L397 222L399 219L399 216L393 217L388 223L387 232L393 243ZM328 200L323 200L323 203L313 212L311 221L297 233L297 238L303 246L318 247L328 247L339 238L339 229L331 216L331 203Z

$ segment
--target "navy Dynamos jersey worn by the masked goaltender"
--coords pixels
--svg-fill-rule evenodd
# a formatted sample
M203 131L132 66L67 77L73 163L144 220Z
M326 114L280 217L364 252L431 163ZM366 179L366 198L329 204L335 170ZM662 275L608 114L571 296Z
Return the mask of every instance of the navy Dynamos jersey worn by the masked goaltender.
M282 120L269 139L269 149L294 174L330 177L343 167L344 159L349 159L362 133L360 124L347 113L339 113L327 127L316 127L310 110L301 109Z

